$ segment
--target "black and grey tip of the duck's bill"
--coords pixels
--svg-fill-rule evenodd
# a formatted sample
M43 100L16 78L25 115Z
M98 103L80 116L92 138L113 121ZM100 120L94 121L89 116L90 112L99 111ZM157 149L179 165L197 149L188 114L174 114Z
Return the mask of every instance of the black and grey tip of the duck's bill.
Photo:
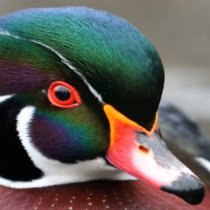
M194 205L201 203L205 195L204 184L188 174L183 174L181 179L174 181L171 186L162 186L161 189Z

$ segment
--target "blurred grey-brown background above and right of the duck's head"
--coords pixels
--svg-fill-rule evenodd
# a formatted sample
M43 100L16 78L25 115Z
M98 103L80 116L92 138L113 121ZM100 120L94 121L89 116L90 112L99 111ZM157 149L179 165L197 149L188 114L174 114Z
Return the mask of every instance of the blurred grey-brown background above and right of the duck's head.
M163 98L210 136L209 0L0 0L0 16L30 7L87 6L119 15L157 48L165 66Z

